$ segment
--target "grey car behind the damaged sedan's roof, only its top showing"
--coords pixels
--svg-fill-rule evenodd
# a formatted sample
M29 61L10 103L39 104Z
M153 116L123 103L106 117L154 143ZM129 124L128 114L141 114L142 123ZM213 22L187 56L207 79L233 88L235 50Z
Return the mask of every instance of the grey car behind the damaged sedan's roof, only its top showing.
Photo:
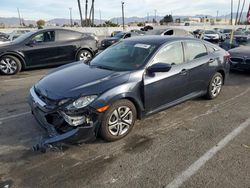
M148 31L146 35L168 35L168 36L189 36L194 37L190 32L179 28L165 28Z

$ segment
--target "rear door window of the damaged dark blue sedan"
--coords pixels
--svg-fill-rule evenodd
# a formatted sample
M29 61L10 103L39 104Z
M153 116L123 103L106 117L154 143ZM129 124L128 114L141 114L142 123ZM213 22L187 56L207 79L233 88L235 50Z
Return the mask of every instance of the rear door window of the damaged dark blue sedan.
M205 45L199 42L187 42L186 48L187 57L190 61L208 55Z

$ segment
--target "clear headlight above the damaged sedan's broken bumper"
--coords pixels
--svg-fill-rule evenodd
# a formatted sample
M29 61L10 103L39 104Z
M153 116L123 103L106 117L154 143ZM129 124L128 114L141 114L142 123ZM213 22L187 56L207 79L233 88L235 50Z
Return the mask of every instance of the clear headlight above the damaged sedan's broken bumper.
M68 105L66 108L68 110L77 110L88 106L91 102L93 102L97 98L97 95L90 95L85 97L80 97L75 100L72 104Z

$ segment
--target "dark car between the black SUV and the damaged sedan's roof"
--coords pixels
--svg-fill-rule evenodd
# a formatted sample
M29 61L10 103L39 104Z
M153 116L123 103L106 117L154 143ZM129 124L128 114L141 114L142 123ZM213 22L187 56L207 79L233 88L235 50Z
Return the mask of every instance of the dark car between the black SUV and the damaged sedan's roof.
M130 38L132 36L138 36L139 34L133 32L119 32L114 37L103 39L101 42L101 49L106 49L109 46L119 42L122 39Z

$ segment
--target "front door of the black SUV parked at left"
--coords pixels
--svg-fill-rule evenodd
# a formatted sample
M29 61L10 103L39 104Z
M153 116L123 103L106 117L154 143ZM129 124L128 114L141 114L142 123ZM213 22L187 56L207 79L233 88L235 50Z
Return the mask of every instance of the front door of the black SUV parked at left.
M55 31L45 31L32 35L23 47L28 66L42 66L58 62Z

